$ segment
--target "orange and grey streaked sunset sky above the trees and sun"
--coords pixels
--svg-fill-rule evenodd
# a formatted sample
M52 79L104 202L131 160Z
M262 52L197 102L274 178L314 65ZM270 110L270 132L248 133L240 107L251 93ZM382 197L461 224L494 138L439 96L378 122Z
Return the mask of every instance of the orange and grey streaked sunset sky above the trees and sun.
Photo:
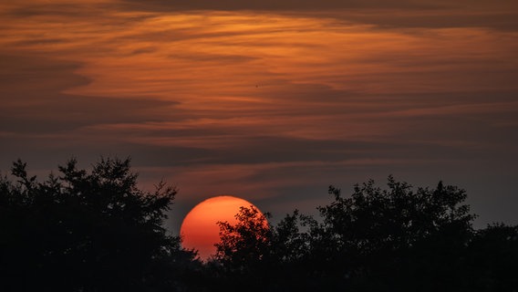
M168 224L316 214L389 174L518 224L518 2L0 0L0 170L131 157Z

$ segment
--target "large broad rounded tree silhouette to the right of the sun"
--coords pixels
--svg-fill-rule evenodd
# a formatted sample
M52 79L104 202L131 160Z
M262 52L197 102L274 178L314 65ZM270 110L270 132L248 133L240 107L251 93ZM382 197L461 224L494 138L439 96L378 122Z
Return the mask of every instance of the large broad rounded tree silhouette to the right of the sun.
M385 190L369 181L350 197L329 193L334 202L309 230L316 272L357 290L451 288L472 235L464 190L440 182L414 191L389 176Z

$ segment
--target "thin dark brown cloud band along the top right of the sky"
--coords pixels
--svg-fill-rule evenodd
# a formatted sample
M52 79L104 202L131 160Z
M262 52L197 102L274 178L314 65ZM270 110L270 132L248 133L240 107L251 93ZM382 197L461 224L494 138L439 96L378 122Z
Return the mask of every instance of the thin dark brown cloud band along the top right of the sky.
M489 27L518 29L518 4L512 0L125 0L126 7L140 11L257 11L284 15L330 17L381 27Z

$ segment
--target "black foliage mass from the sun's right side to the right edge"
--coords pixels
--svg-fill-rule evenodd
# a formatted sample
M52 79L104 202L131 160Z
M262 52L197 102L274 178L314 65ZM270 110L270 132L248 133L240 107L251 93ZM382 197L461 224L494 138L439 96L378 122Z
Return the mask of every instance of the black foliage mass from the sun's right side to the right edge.
M388 189L369 181L347 197L333 186L329 194L319 218L295 211L269 229L243 208L236 225L221 224L220 270L261 283L255 291L518 290L518 227L473 230L464 190L414 190L388 177ZM242 252L249 257L234 258Z

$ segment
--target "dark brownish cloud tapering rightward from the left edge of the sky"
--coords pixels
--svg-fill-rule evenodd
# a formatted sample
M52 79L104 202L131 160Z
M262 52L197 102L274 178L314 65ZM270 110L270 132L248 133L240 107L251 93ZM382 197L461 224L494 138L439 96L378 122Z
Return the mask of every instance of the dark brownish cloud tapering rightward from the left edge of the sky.
M48 57L0 53L0 131L52 133L96 124L161 120L178 104L173 100L114 99L63 93L85 86L78 63Z

